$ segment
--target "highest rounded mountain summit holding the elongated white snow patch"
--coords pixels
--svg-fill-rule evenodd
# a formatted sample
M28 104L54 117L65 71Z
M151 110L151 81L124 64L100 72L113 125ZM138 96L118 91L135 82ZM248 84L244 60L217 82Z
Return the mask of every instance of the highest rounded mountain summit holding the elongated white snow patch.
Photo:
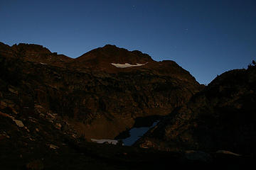
M105 45L76 58L70 63L70 67L119 72L116 68L139 67L149 62L154 60L138 50L131 52L115 45Z

